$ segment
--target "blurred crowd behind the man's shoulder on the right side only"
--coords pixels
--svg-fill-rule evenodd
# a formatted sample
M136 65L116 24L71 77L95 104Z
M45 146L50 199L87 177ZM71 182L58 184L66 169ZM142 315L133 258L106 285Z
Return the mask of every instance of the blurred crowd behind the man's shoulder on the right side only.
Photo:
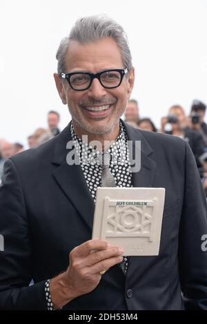
M158 130L150 118L140 117L138 102L131 99L128 101L125 120L135 128L179 136L187 141L195 156L207 197L207 125L204 122L205 113L206 105L199 100L193 101L189 114L186 114L181 105L172 105L166 116L161 117L161 127Z

